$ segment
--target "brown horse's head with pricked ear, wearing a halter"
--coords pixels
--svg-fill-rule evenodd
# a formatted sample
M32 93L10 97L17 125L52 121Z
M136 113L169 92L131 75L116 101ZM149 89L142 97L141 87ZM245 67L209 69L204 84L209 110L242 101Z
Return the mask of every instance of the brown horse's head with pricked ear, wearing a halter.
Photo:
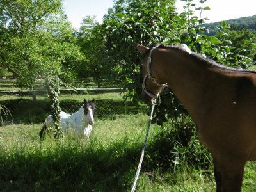
M156 99L159 93L167 86L167 84L159 84L156 68L152 65L151 54L154 49L158 46L153 47L152 49L145 47L143 45L137 44L137 49L140 54L143 56L141 62L141 73L143 78L142 83L142 92L141 99L147 104L152 104L154 99ZM154 78L152 77L154 76Z

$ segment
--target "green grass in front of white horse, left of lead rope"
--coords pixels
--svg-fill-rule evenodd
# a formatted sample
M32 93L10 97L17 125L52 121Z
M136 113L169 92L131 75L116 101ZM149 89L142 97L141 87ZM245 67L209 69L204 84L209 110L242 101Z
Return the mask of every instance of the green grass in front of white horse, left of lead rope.
M140 121L131 124L134 119ZM0 189L126 190L132 182L145 127L147 116L132 115L96 122L89 140L70 133L63 141L50 137L40 141L37 134L41 125L1 127Z

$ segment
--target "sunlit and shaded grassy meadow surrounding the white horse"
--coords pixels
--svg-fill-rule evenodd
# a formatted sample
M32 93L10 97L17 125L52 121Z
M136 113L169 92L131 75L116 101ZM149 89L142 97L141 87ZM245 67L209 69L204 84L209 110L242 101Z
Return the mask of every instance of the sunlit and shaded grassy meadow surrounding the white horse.
M36 103L29 95L0 97L13 118L0 127L0 191L131 191L148 108L124 102L117 91L62 93L60 101L79 106L84 97L97 105L90 138L68 131L62 140L38 137L49 115L45 96L36 95ZM214 191L211 156L196 136L186 146L174 141L172 125L150 128L136 191ZM255 191L255 180L256 164L249 162L243 191Z

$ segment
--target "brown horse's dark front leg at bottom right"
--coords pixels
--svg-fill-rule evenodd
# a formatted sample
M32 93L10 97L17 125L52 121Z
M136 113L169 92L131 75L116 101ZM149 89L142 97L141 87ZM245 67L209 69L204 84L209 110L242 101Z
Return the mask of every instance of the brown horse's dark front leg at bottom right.
M221 157L221 184L224 192L240 192L242 188L246 159Z

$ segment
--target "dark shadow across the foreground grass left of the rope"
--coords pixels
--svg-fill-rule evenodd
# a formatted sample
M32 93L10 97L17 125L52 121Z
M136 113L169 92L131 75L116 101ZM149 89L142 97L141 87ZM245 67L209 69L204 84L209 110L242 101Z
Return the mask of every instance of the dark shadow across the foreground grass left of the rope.
M138 145L137 141L124 139L108 148L99 143L87 144L84 149L72 143L47 151L38 147L30 153L24 145L12 154L0 153L0 188L6 191L131 190L143 143ZM156 157L145 158L143 172L156 168L148 163L160 163Z

